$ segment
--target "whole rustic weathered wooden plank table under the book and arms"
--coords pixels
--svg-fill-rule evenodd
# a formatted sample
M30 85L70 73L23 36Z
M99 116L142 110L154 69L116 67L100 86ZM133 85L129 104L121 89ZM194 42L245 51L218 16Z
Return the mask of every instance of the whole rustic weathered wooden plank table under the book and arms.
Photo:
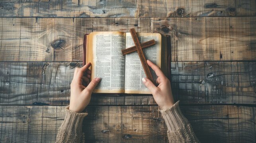
M171 36L172 90L201 142L256 141L255 0L0 1L0 142L54 142L92 31ZM149 95L93 95L88 142L168 142Z

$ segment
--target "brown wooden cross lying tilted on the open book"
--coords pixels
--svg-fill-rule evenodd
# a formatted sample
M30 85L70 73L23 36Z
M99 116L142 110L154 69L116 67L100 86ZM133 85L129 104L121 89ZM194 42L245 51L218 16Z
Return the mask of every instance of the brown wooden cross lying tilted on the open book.
M149 65L147 64L147 60L145 58L142 48L147 48L148 46L152 46L156 44L156 42L153 39L140 44L135 29L134 28L130 29L130 32L131 32L131 36L133 37L133 42L135 46L122 50L122 53L123 55L125 55L131 52L137 51L141 59L141 64L143 66L144 72L146 73L147 79L149 79L150 81L152 81L152 83L154 83L152 74L149 70Z

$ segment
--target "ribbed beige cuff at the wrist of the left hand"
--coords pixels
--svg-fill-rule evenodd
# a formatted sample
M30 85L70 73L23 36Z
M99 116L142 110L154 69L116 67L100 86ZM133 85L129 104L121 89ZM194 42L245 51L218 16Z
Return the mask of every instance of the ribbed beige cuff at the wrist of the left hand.
M88 113L77 113L69 110L69 105L66 106L66 116L64 122L62 124L62 129L64 129L68 134L79 134L82 133L82 122L84 117L87 116ZM71 133L72 131L72 133Z

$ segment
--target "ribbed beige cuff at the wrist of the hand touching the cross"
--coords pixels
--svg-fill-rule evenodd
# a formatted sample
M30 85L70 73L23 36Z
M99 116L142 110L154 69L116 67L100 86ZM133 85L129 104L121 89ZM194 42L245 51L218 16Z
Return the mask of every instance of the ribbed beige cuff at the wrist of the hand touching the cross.
M176 102L167 109L159 110L170 132L182 129L188 124L188 120L186 117L184 117L180 110L179 102L180 101Z

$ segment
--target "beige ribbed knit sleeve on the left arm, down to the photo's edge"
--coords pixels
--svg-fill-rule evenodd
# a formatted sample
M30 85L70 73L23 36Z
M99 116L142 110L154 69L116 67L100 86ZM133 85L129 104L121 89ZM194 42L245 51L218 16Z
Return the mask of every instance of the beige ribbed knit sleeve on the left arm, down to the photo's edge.
M65 119L59 128L56 143L82 143L84 135L82 133L82 122L88 113L76 113L66 107Z

